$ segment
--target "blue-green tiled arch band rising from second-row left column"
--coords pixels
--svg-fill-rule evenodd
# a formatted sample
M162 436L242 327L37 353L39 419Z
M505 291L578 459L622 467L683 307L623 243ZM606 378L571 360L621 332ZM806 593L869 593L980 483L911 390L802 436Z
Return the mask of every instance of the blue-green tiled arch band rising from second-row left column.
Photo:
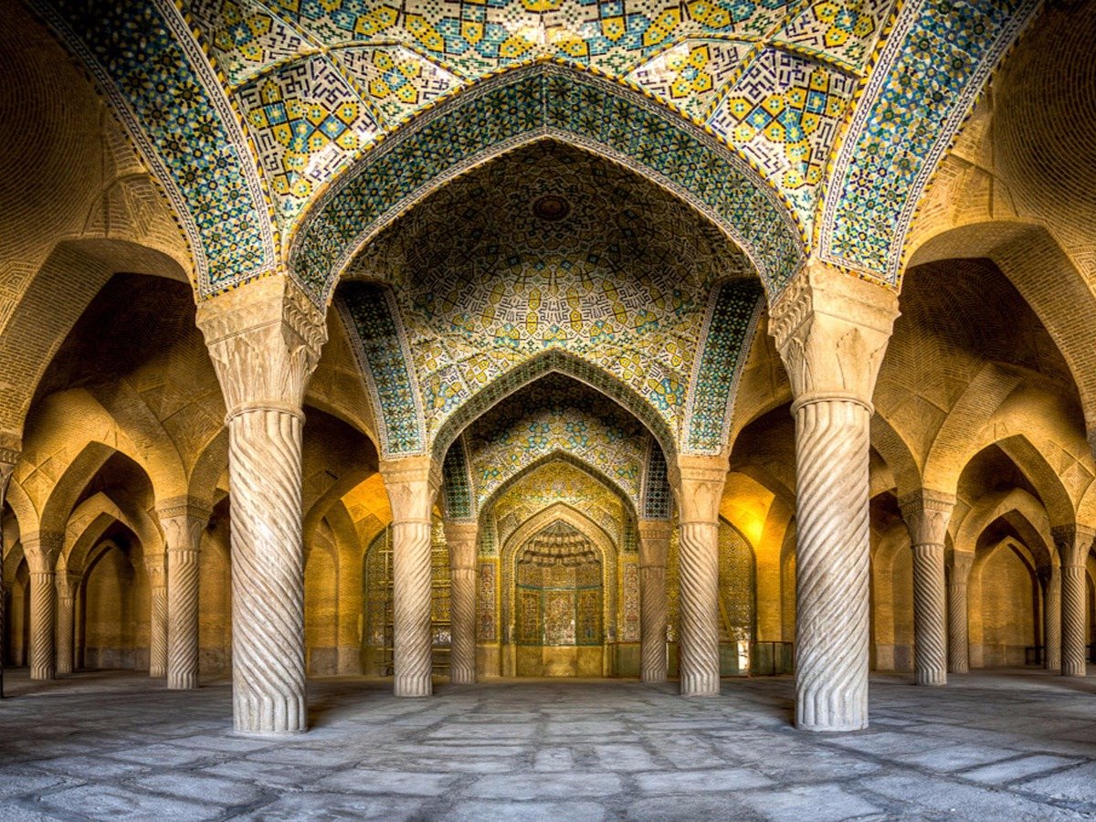
M377 426L381 454L423 453L422 401L390 293L372 283L347 283L335 305L383 423Z

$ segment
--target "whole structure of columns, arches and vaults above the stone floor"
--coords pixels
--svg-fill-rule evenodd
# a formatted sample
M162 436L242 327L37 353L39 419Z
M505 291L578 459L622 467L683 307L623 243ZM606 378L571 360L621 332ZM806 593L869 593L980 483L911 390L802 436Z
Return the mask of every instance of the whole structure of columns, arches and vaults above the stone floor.
M5 11L9 671L1085 676L1096 5L419 5Z

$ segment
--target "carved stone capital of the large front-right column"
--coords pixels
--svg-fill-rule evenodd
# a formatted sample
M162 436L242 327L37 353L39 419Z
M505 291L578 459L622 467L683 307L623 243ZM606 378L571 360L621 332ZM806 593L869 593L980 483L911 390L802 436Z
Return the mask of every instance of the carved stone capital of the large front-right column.
M898 295L812 260L769 309L795 407L843 399L870 409Z

